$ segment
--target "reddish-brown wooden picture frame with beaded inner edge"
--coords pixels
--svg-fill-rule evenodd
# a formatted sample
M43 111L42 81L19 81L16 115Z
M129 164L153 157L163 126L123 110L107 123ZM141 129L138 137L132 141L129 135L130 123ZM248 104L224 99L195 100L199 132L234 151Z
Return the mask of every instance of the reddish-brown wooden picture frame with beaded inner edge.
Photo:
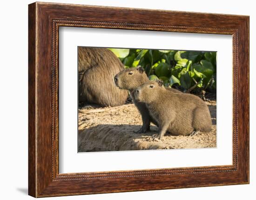
M249 183L249 16L38 2L28 8L29 195L48 197ZM60 26L232 35L233 164L59 174Z

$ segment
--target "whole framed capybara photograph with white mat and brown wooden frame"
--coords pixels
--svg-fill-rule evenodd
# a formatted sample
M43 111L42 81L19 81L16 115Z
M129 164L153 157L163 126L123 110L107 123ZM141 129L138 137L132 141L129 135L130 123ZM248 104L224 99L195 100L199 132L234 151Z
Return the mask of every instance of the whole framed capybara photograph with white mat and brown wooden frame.
M248 16L28 15L29 195L249 183Z

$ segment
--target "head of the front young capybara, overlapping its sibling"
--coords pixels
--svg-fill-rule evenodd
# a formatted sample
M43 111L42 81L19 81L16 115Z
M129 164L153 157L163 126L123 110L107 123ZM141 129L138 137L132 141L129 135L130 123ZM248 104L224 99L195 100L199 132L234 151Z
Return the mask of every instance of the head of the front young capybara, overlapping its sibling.
M135 89L135 99L143 103L151 103L159 99L159 92L166 90L161 79L149 81Z

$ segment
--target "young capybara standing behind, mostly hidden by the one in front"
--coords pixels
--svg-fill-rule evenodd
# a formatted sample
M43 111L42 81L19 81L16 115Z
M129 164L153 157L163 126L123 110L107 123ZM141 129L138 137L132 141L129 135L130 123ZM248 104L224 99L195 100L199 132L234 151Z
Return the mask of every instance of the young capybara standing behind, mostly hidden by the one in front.
M145 103L138 102L134 98L135 89L141 84L149 81L144 69L140 65L137 67L128 68L116 74L114 79L117 87L119 87L120 89L129 90L130 96L132 97L135 106L141 113L142 127L137 131L137 133L145 133L147 130L149 130L150 122L154 123L157 126L158 123L153 117L150 116L150 113ZM175 93L182 93L181 91L172 88L167 88L167 90Z

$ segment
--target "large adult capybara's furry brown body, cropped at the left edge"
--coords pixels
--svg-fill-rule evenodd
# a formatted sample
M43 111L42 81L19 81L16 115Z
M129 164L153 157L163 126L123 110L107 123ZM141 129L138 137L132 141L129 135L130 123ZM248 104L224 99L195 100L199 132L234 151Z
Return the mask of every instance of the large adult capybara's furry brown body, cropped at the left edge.
M79 102L118 106L128 92L115 86L113 77L124 70L121 61L106 48L78 47Z

